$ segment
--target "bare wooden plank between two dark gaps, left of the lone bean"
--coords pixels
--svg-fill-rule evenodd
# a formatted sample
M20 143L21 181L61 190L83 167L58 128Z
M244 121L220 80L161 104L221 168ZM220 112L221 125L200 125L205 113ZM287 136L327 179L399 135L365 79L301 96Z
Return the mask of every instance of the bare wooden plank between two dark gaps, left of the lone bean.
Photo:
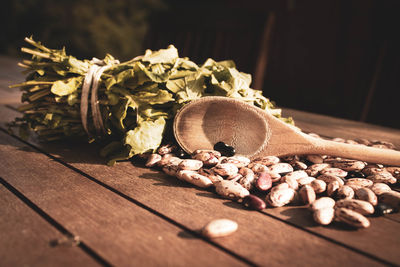
M0 176L111 264L246 265L3 132L0 140Z

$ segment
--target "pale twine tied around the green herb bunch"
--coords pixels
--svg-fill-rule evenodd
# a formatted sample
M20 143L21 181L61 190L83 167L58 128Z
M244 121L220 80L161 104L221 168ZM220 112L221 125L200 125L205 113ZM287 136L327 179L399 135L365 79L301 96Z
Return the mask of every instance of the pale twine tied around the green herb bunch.
M118 60L114 60L111 64L106 64L104 60L93 58L91 63L93 65L89 68L85 75L82 86L81 94L81 121L83 129L92 137L92 134L88 129L88 108L89 108L89 94L90 94L90 108L92 110L93 125L96 130L96 136L101 137L106 134L106 130L103 124L103 118L101 115L99 100L98 100L98 88L100 77L104 71L111 68L115 64L119 64Z

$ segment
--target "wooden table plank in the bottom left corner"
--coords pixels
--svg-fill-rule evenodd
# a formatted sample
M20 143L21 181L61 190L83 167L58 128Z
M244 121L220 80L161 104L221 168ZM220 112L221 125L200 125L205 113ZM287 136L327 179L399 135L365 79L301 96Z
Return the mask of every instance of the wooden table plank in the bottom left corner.
M0 265L99 266L77 246L51 246L66 236L0 184ZM23 256L22 256L23 255Z

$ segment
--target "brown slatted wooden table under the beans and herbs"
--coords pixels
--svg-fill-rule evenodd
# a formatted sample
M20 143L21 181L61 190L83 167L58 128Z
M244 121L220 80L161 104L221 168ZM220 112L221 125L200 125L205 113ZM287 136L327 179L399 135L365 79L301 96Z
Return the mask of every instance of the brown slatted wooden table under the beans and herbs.
M0 57L0 266L380 266L400 265L400 215L367 229L317 226L305 207L243 209L129 161L105 165L86 143L24 141L5 123L19 113L23 80ZM304 131L379 139L400 147L400 131L284 110ZM212 219L239 224L207 240Z

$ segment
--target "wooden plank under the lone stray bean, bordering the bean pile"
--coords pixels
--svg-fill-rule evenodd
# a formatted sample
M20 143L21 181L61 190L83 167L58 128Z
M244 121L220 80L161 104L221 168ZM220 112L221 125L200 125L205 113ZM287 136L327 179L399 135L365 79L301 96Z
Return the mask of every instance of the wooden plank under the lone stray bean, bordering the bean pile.
M106 167L104 160L97 156L95 146L72 143L67 146L65 143L35 145L95 177L106 187L118 190L126 198L140 201L189 229L198 230L209 220L219 217L234 219L239 223L239 231L215 242L258 265L294 265L298 262L328 266L349 262L382 264L381 260L375 259L381 251L371 251L371 255L365 257L364 254L370 252L355 252L303 231L299 229L301 226L293 227L265 214L244 210L237 203L218 198L213 192L194 188L157 171L132 166L130 162Z

